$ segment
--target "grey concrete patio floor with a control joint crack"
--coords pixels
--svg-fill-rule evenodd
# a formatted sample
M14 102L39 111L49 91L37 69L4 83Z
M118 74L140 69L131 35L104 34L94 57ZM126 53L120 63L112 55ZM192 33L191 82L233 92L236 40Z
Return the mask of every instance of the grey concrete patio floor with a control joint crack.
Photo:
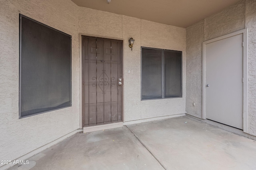
M77 133L9 170L256 170L256 141L184 116Z

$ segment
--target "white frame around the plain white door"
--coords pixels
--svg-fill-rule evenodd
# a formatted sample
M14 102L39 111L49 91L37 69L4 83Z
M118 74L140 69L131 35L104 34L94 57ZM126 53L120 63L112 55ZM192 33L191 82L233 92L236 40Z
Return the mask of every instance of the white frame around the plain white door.
M245 133L248 133L248 29L242 29L240 31L236 31L234 33L223 35L221 37L217 37L203 42L202 118L206 119L206 45L239 34L243 34L243 129Z

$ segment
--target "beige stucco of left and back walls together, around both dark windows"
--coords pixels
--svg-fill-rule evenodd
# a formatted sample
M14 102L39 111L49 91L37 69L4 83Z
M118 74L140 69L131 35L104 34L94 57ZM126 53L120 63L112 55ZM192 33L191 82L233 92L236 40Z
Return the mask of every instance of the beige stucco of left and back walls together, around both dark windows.
M72 35L72 107L18 119L19 14ZM185 113L186 29L78 7L70 0L2 0L0 160L14 160L80 128L79 33L124 40L125 121ZM135 39L133 51L130 37ZM141 46L183 52L183 98L140 100Z

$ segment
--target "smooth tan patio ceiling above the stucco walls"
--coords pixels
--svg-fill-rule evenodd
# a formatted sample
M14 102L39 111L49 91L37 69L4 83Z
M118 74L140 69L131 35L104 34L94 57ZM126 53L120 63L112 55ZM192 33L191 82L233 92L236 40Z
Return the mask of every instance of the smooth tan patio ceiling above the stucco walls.
M240 0L72 0L78 6L188 27Z

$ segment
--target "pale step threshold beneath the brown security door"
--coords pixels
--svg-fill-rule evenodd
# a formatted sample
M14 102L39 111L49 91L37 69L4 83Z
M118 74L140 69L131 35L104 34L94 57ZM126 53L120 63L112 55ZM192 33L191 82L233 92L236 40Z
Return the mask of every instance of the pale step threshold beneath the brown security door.
M104 124L104 125L88 126L88 127L84 127L83 131L84 131L84 133L88 133L88 132L94 132L94 131L102 131L102 130L106 130L106 129L113 129L113 128L116 128L116 127L123 127L123 122L108 123L108 124Z

